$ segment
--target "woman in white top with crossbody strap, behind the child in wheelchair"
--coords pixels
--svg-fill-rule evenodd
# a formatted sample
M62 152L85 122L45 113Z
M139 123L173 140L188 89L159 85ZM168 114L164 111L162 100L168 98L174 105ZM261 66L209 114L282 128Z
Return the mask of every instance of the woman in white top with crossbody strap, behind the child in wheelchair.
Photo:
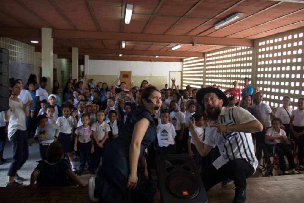
M282 99L283 106L279 107L277 111L275 112L275 117L280 118L282 120L283 126L285 126L285 133L288 137L290 134L290 117L292 108L290 107L290 97L284 96Z

